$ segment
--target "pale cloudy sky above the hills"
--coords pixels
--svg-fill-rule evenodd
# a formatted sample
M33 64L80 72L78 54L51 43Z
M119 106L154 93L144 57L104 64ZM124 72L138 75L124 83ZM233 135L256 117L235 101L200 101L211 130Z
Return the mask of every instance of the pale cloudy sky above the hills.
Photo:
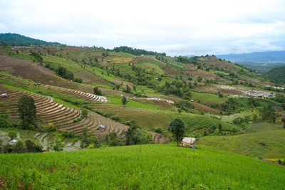
M0 33L168 56L285 50L285 0L0 0Z

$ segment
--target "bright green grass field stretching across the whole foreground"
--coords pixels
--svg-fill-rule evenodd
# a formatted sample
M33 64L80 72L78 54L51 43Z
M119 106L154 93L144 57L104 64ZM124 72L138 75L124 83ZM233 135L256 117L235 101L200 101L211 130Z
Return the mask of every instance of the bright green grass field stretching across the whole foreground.
M9 189L282 189L285 169L211 149L174 144L46 154L0 154Z

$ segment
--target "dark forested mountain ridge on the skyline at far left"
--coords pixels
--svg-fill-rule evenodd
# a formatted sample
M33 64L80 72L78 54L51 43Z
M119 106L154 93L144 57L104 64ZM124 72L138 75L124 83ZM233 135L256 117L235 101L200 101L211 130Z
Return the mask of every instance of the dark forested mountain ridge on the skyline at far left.
M0 33L0 43L1 45L10 46L31 46L31 45L62 45L58 42L47 42L38 39L22 36L17 33Z

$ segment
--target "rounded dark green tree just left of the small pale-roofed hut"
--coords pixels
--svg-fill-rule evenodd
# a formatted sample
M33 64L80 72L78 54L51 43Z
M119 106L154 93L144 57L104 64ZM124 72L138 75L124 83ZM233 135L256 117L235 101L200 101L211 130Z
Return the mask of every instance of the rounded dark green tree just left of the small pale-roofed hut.
M170 122L170 125L168 126L168 131L172 133L172 136L177 141L177 147L179 147L179 142L184 137L186 131L184 122L180 118L172 120L172 122Z

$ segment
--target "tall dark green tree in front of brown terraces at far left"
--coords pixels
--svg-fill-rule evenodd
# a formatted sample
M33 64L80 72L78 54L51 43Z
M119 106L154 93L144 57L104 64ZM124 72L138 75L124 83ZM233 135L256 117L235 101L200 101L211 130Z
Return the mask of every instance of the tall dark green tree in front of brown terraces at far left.
M33 97L22 95L18 101L18 110L24 129L28 129L29 124L33 124L36 117L36 105Z

